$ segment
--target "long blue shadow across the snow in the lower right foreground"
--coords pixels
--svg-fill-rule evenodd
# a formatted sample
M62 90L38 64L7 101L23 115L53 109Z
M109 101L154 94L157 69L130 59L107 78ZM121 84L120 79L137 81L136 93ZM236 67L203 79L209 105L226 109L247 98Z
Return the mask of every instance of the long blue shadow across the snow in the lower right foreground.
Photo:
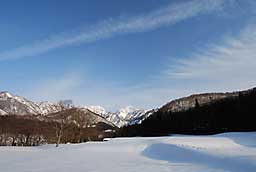
M214 169L223 169L232 172L255 172L256 164L246 157L218 157L197 150L181 148L170 144L153 144L147 147L143 156L156 160L165 160L176 163L195 163Z

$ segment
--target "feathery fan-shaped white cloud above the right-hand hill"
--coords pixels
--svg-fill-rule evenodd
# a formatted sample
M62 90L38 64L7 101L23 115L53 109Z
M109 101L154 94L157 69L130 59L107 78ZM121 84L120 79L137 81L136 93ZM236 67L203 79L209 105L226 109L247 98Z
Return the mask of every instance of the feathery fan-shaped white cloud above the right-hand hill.
M190 89L230 91L256 85L256 23L250 23L237 36L176 60L162 77L189 83ZM185 87L185 86L181 86Z

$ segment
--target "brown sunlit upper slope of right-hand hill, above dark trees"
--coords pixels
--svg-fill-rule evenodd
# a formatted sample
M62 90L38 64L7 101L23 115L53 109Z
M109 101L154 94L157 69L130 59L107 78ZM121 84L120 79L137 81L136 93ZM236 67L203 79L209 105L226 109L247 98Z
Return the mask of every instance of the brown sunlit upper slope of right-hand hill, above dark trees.
M179 112L186 111L196 106L196 104L204 105L227 97L236 97L238 92L234 93L205 93L194 94L188 97L173 100L164 105L161 110L165 112Z

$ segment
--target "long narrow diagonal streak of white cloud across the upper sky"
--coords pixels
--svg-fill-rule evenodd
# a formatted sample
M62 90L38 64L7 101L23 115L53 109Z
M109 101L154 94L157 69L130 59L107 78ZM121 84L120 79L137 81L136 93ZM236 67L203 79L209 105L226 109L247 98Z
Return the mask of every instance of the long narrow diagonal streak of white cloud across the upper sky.
M15 49L0 52L0 60L37 56L74 44L90 43L115 35L136 33L170 26L186 19L222 9L225 0L193 0L170 4L147 14L123 19L108 19L80 32L62 33Z

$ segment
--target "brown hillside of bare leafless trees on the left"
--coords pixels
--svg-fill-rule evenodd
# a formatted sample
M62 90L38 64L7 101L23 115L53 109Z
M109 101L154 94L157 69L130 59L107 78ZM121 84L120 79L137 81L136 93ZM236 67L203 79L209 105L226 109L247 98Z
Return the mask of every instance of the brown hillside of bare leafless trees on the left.
M68 109L41 115L0 116L0 146L81 143L113 135L114 126L89 110Z

